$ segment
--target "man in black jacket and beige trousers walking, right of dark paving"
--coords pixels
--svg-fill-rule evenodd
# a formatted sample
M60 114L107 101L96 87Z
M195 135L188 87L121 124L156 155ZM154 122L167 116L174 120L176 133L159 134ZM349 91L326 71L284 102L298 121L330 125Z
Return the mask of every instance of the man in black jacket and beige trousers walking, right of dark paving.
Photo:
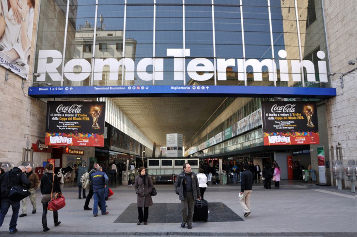
M253 173L248 170L248 164L243 164L243 173L241 177L241 191L239 193L239 202L241 203L244 210L244 217L250 214L250 195L252 193L252 187L254 182ZM243 195L243 197L242 197Z

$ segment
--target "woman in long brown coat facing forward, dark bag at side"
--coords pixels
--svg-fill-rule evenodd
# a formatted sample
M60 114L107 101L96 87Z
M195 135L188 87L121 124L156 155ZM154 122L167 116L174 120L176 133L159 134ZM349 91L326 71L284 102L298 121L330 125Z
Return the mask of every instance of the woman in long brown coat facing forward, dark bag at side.
M135 178L134 188L137 194L137 211L139 214L139 221L136 225L140 225L144 221L144 225L147 225L147 218L149 217L149 207L154 205L151 199L151 192L154 189L154 184L152 184L151 176L146 174L145 167L139 168L139 176ZM144 215L142 213L142 208L144 208Z

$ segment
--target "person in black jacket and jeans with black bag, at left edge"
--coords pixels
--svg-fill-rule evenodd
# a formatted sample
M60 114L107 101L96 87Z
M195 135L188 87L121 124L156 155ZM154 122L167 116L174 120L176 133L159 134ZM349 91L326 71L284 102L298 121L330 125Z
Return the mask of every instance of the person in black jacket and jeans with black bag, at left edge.
M31 186L30 181L27 179L26 175L22 172L21 168L25 169L24 166L19 168L15 167L9 172L6 172L1 176L1 211L0 211L0 226L4 222L5 215L12 206L12 217L10 220L10 234L17 231L17 217L19 216L20 201L12 201L8 198L10 189L14 186L20 185L28 189Z

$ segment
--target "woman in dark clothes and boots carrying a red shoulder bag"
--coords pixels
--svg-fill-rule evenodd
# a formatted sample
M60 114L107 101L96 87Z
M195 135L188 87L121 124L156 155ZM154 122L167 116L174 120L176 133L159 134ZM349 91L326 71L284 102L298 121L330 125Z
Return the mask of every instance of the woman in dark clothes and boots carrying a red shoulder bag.
M52 197L55 196L56 193L61 192L60 182L58 181L58 176L53 172L53 165L46 164L44 168L45 174L41 177L41 202L42 202L42 227L44 228L44 232L49 231L50 228L47 227L47 207L48 203L51 201L51 193ZM58 211L53 211L53 221L55 226L61 224L58 221Z

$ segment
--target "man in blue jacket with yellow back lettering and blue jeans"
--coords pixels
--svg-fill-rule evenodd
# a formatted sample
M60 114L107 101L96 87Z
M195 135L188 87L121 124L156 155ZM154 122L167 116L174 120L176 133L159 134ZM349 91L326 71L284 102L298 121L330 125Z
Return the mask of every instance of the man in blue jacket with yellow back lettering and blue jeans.
M97 171L90 176L91 184L93 185L93 215L98 216L98 202L101 204L102 215L107 215L105 206L105 187L108 185L109 178L101 166L97 166Z

